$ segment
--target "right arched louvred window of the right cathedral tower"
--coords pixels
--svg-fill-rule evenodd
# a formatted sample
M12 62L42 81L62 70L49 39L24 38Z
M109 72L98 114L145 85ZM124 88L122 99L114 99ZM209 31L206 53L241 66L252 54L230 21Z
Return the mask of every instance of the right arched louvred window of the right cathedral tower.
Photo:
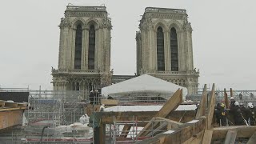
M178 71L178 40L174 27L170 29L170 53L171 70Z

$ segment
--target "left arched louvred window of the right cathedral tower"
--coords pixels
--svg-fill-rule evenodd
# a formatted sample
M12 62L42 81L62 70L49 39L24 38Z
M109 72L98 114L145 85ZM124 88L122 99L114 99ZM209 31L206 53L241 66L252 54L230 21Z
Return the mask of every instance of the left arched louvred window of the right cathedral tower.
M158 70L165 70L165 52L164 52L164 36L162 27L158 27L157 32L157 57L158 57Z

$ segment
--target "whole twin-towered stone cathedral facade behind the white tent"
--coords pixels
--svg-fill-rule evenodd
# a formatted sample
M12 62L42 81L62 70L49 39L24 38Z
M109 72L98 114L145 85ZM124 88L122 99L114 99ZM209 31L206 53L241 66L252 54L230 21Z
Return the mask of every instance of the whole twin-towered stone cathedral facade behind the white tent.
M105 6L67 6L59 28L54 90L89 92L136 76L110 70L112 25ZM199 72L193 66L191 33L186 10L147 7L136 33L137 75L150 74L196 94Z

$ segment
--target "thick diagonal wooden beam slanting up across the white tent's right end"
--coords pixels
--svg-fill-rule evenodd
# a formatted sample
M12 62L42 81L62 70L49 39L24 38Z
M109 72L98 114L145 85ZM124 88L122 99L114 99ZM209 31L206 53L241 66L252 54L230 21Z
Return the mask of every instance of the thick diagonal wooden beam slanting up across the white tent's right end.
M155 115L155 117L166 118L171 111L175 110L182 103L182 90L178 89L173 96L166 102L164 106L162 106L161 110ZM138 134L138 137L144 136L147 134L147 130L149 130L151 123L149 122Z

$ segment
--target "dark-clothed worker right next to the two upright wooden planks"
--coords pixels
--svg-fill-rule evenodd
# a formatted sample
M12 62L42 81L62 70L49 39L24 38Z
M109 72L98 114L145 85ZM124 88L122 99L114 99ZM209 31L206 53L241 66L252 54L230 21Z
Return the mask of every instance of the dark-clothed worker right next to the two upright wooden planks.
M217 104L215 116L218 126L226 126L226 111L224 103Z

